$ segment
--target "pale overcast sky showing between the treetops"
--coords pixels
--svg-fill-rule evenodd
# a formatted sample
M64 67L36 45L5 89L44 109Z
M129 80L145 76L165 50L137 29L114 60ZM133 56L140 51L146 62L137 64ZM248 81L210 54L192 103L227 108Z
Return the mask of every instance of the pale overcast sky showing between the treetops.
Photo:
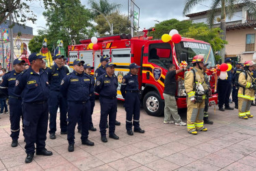
M99 1L99 0L98 0ZM140 8L140 28L153 27L156 21L165 21L170 18L177 18L179 20L187 19L183 16L182 11L185 4L185 0L133 0L136 5ZM210 4L207 3L210 0L205 0L206 3L201 3L201 5L196 5L195 8L191 10L190 13L201 12L204 10L209 10ZM128 0L110 0L113 3L119 3L122 5L120 12L123 14L128 14ZM88 0L81 0L86 8L90 8L88 5ZM138 8L137 8L138 9ZM27 23L29 27L33 27L34 35L37 35L38 29L42 29L45 26L45 19L42 16L44 12L44 7L40 3L31 3L31 10L37 15L37 21L35 24ZM135 8L136 10L136 8Z

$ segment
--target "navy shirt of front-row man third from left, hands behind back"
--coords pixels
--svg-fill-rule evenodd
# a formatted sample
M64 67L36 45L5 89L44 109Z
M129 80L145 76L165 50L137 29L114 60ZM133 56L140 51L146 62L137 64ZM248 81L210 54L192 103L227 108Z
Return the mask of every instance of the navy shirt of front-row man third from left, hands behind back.
M114 98L117 95L117 87L118 81L116 75L112 75L112 77L110 77L105 73L97 79L94 90L99 93L100 96Z

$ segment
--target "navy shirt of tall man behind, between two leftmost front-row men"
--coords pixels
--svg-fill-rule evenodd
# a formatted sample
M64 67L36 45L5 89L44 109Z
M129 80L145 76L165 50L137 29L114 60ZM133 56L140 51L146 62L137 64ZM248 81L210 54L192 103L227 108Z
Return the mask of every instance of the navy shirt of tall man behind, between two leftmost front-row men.
M57 64L54 64L53 68L48 68L48 77L50 83L50 90L60 90L60 83L62 79L66 76L65 66L58 67Z

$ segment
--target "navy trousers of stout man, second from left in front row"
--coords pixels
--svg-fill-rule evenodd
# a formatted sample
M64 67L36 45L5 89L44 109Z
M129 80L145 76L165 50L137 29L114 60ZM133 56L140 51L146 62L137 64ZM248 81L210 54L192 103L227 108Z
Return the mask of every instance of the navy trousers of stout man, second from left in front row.
M75 125L81 117L81 140L85 141L89 135L90 101L77 103L68 101L68 144L75 144Z

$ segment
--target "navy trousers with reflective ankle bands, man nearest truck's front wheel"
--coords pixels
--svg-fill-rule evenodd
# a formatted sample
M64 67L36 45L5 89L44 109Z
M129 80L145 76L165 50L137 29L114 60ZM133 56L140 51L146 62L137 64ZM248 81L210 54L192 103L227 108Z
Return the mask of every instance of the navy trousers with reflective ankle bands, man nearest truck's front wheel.
M140 95L138 92L127 91L125 94L126 129L132 129L132 116L134 129L140 129Z

